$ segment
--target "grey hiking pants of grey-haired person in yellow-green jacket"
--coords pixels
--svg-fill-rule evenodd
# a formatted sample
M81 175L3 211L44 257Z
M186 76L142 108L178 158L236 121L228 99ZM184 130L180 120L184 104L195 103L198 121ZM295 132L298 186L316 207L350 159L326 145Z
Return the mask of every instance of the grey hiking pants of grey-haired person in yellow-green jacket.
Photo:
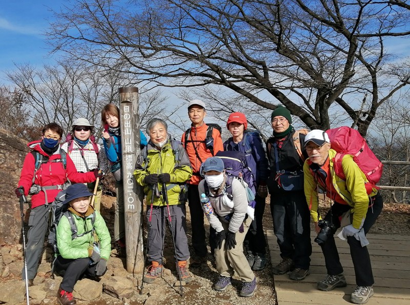
M189 258L188 238L187 238L187 216L185 205L169 206L172 220L172 228L174 230L176 260L183 261ZM147 223L150 219L151 206L147 209ZM148 261L157 261L162 263L163 247L165 238L165 226L168 221L167 206L153 206L150 236L148 238ZM173 245L167 245L173 248Z

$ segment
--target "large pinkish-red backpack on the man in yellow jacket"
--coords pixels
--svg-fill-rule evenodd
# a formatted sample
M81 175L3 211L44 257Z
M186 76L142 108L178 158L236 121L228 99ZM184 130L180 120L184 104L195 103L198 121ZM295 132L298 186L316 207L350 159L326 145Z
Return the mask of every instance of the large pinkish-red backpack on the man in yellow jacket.
M337 152L334 158L334 169L338 177L346 179L342 170L342 159L348 154L353 156L353 160L371 184L376 185L380 181L383 164L356 129L342 126L329 129L326 133L329 135L331 148Z

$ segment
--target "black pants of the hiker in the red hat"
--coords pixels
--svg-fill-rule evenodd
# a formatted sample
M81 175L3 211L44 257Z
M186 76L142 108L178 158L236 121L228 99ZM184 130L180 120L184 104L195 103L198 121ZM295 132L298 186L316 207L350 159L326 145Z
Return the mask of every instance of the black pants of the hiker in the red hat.
M258 194L255 196L255 219L252 220L248 233L245 236L243 245L246 251L252 253L265 253L266 240L263 233L263 213L265 211L265 198L260 197Z

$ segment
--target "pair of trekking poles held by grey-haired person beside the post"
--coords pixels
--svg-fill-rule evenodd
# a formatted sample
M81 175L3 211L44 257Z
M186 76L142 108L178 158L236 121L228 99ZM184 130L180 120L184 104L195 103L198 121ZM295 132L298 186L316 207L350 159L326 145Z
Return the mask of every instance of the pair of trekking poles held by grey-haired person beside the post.
M146 247L145 247L146 251L148 251L148 240L150 238L152 208L153 208L153 204L154 204L154 196L155 195L157 195L157 197L159 197L158 185L154 185L153 188L152 188L150 217L148 219L148 227L147 227L147 243L146 243ZM170 205L169 205L169 201L168 201L167 185L165 183L162 184L162 197L163 197L163 199L165 200L165 202L167 204L168 225L170 227L170 231L171 231L171 235L172 235L172 242L174 244L175 259L176 259L176 270L178 272L180 294L181 294L181 297L183 297L181 271L180 271L179 266L178 266L178 255L176 253L176 246L175 246L175 234L174 234L174 228L172 226L172 220L171 220L171 212L170 212ZM147 261L146 256L147 255L144 255L144 269L142 269L142 281L141 281L141 287L139 289L139 294L140 295L142 295L142 289L144 289L144 275L145 275L145 267L146 267L146 261Z

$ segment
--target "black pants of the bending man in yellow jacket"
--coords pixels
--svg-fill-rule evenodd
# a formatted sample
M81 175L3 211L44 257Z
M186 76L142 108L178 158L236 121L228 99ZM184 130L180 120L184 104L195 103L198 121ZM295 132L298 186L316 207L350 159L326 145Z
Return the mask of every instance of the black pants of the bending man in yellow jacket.
M383 209L383 198L379 193L372 197L373 207L369 207L366 213L366 219L363 223L364 234L372 228L377 217ZM324 220L330 221L332 219L333 225L340 228L339 216L344 212L350 210L352 207L348 205L341 205L335 202L332 206L332 213L327 212ZM372 209L373 208L373 209ZM350 255L352 256L353 266L355 268L356 284L357 286L372 286L374 284L372 263L367 247L362 247L360 241L354 236L347 237L347 243L350 247ZM340 263L339 253L336 248L335 238L333 235L327 237L326 242L321 246L326 263L327 274L338 275L343 272L343 267Z

